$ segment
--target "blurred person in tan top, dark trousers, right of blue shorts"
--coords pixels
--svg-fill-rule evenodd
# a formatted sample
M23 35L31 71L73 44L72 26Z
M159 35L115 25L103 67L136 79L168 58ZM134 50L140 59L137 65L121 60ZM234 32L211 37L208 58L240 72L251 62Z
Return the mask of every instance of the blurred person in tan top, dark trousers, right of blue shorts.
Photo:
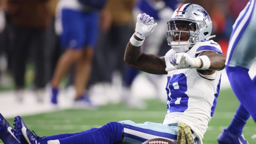
M120 102L125 63L123 53L134 33L133 7L136 0L107 0L101 11L100 35L95 47L90 94L94 102ZM104 101L104 102L103 102Z

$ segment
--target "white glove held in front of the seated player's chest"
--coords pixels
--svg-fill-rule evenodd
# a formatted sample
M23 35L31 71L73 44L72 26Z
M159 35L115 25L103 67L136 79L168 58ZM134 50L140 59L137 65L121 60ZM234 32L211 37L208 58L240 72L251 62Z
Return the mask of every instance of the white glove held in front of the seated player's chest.
M172 71L175 69L183 69L183 68L200 68L201 59L192 58L185 52L176 53L173 57L170 57L171 65L166 66L166 71Z

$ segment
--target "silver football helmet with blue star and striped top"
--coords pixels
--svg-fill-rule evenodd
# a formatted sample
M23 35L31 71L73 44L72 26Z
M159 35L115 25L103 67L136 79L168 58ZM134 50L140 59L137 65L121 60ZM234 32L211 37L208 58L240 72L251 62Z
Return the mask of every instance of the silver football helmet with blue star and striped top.
M181 22L194 26L195 31L179 31L176 27L176 24ZM168 45L172 47L186 45L186 50L188 50L188 47L191 47L191 45L195 44L196 42L199 42L201 40L208 40L209 38L215 36L211 36L211 18L209 14L205 11L205 9L200 5L192 3L181 5L173 12L172 17L167 21L167 24ZM179 35L181 33L188 33L190 35L190 38L189 40L187 40L187 42L180 42L182 40L180 40L179 36L179 41L174 42L173 40L175 33L179 33ZM181 51L183 52L186 50Z

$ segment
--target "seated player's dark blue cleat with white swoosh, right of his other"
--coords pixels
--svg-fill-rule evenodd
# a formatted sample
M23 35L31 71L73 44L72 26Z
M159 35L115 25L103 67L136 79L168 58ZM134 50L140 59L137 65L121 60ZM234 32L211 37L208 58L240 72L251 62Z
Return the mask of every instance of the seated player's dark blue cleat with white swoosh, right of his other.
M19 138L21 144L40 144L40 137L34 135L30 130L28 130L20 116L16 116L14 118L14 126L16 130L15 133Z

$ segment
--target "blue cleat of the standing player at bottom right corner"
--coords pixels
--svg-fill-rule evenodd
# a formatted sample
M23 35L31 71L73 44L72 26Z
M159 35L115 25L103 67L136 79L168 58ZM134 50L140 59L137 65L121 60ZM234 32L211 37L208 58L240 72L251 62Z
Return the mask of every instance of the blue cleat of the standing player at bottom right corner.
M244 135L232 135L224 129L217 138L219 144L249 144Z

